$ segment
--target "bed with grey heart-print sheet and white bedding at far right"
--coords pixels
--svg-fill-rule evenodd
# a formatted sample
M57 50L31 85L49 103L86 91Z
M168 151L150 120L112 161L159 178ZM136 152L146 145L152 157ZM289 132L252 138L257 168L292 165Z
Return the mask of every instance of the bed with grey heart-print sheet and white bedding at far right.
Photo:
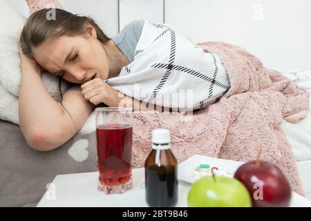
M306 196L311 199L311 111L298 124L283 122L282 128L296 155ZM295 131L295 133L292 133ZM297 133L305 137L296 136ZM309 138L309 139L308 139ZM39 152L26 143L19 126L0 121L0 206L32 206L58 174L96 171L95 133L78 133L61 147Z

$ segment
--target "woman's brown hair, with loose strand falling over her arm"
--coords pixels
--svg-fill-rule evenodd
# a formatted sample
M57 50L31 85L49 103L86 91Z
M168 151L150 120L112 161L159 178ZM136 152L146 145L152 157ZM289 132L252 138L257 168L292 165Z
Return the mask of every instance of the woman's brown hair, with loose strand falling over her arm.
M52 14L50 14L51 12ZM49 15L53 15L53 17L49 17ZM33 49L40 46L47 39L60 37L63 35L84 35L84 25L86 23L89 23L91 26L93 26L93 28L95 28L97 39L102 44L106 44L106 42L110 40L110 38L104 34L97 23L91 19L91 17L74 15L70 12L67 12L66 10L59 8L44 8L38 10L37 12L34 12L32 15L30 15L26 21L25 26L23 26L21 37L19 39L21 50L23 51L24 55L33 59ZM59 77L59 93L61 95L60 104L63 106L61 80L62 76ZM63 108L66 110L64 106ZM70 115L70 113L68 114Z

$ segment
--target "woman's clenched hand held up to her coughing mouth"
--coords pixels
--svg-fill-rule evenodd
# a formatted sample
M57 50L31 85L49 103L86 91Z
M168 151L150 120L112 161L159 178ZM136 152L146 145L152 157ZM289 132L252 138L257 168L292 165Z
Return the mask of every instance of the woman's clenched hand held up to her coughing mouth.
M116 107L126 97L119 91L111 88L100 78L87 81L82 84L81 88L84 98L94 105L105 103L108 106Z

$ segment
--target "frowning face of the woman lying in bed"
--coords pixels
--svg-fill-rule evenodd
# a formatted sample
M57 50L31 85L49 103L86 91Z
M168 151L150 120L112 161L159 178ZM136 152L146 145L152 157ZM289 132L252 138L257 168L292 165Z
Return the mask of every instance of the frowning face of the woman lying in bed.
M48 39L33 50L37 63L48 72L66 81L84 84L95 77L107 79L109 65L95 29L86 28L82 36L61 36Z

